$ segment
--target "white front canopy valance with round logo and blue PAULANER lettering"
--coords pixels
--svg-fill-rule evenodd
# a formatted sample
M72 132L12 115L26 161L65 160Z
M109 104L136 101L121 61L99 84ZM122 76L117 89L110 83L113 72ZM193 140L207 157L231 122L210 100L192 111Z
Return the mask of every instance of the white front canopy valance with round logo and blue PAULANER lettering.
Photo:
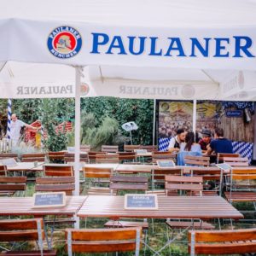
M253 25L188 29L2 19L0 61L252 70L255 31Z

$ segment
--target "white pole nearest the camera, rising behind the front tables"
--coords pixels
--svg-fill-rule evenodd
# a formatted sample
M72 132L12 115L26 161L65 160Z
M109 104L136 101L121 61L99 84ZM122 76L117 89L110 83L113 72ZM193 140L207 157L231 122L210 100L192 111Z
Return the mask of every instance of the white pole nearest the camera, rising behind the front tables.
M80 174L80 84L81 84L81 67L76 69L76 91L75 91L75 192L74 195L79 195L79 174Z

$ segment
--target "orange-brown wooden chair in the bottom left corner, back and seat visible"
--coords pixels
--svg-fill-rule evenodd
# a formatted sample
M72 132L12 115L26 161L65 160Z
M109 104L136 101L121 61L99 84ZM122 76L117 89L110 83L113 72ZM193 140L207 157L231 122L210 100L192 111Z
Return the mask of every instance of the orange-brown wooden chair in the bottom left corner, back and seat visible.
M38 250L3 251L1 255L9 256L55 256L55 250L44 250L44 223L42 218L0 220L0 241L38 241Z

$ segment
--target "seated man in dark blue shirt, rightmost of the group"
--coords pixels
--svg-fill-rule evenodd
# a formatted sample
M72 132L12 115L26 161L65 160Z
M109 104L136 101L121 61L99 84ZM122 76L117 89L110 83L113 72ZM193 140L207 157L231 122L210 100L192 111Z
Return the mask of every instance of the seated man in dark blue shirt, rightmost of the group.
M214 140L207 148L206 155L211 155L212 152L218 153L233 153L233 146L230 140L224 138L224 130L222 128L216 128L214 132Z

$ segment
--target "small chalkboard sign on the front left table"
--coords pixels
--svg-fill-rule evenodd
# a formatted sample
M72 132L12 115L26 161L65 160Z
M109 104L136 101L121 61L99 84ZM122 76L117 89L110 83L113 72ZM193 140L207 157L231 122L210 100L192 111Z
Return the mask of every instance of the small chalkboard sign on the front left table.
M65 205L65 192L35 193L33 195L33 207L64 207Z

